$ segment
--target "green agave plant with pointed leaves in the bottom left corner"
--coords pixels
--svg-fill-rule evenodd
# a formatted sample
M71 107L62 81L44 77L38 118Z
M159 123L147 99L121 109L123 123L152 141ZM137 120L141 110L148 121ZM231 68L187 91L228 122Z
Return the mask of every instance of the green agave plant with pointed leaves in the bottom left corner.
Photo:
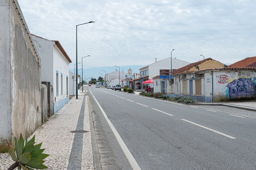
M26 136L26 142L24 145L24 139L20 134L20 139L15 139L15 148L8 144L8 152L10 153L12 160L15 161L8 170L13 170L18 167L18 170L34 170L35 169L47 169L48 167L43 165L44 159L48 157L48 154L44 154L44 149L40 149L42 143L35 144L35 135L28 141L28 137ZM15 154L16 151L16 154Z

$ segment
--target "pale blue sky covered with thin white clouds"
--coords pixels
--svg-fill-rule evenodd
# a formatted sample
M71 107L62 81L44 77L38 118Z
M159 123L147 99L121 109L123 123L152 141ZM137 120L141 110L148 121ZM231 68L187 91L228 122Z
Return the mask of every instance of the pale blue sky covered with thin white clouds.
M30 33L60 41L72 63L98 78L155 58L231 64L256 54L254 0L18 0ZM78 64L78 69L82 66ZM79 73L79 71L78 71Z

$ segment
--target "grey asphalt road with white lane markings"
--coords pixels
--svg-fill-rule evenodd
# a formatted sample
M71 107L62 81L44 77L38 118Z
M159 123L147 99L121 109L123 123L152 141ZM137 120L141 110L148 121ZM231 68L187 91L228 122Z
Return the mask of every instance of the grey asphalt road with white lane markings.
M256 119L88 89L102 169L256 169ZM104 116L105 115L105 116Z

